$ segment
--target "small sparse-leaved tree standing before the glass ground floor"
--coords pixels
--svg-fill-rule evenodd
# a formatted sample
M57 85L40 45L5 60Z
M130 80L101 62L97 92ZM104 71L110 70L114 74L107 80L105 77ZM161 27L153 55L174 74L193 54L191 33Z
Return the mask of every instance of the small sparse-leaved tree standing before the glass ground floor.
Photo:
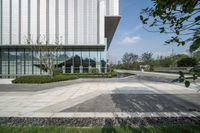
M62 40L56 39L55 44L50 45L46 36L39 36L36 41L34 41L31 36L25 38L26 43L30 46L31 50L37 53L37 59L40 64L34 65L45 70L50 77L53 77L57 65L55 63L57 58L56 53L62 49Z

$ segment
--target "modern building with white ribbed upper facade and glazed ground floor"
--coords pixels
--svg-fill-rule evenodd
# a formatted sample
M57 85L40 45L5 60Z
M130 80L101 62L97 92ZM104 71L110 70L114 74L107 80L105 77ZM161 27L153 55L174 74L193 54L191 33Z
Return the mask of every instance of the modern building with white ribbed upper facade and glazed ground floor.
M119 0L0 0L0 78L46 74L41 58L57 47L64 72L106 72L119 20Z

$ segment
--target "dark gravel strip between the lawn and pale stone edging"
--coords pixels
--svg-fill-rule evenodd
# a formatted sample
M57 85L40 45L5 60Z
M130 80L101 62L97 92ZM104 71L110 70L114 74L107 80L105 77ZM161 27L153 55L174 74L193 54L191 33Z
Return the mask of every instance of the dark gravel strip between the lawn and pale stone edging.
M131 125L162 125L162 124L200 124L200 117L145 117L145 118L18 118L1 117L0 125L10 126L131 126Z

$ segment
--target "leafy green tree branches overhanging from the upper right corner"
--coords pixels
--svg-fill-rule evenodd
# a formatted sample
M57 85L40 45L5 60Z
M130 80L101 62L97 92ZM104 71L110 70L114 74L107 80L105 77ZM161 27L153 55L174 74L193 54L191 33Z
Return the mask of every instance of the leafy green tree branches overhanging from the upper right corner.
M140 19L148 31L170 33L166 41L185 45L191 42L191 51L200 47L200 1L199 0L151 0L153 7L141 12Z

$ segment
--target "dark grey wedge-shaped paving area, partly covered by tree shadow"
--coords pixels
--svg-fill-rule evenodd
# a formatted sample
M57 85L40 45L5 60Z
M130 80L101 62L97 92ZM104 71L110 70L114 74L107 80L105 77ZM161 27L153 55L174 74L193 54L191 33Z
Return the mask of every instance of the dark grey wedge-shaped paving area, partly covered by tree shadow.
M200 112L198 94L105 94L62 112Z

